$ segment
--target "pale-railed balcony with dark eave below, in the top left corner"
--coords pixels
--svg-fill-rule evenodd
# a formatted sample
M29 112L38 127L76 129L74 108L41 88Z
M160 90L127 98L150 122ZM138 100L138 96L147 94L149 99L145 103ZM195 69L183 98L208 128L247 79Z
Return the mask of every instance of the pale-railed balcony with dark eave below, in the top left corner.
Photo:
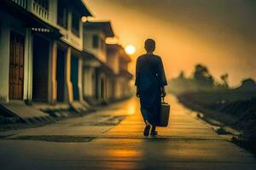
M26 23L32 31L45 33L50 37L62 37L60 30L50 21L49 8L54 3L49 0L0 0L0 10L6 12L15 20ZM41 5L40 5L41 4Z

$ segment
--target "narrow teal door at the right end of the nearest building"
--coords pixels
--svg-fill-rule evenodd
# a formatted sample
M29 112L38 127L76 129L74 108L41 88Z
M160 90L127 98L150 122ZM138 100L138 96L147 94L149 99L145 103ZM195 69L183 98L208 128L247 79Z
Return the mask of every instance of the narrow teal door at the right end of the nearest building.
M79 100L79 59L71 57L71 82L73 85L73 100Z

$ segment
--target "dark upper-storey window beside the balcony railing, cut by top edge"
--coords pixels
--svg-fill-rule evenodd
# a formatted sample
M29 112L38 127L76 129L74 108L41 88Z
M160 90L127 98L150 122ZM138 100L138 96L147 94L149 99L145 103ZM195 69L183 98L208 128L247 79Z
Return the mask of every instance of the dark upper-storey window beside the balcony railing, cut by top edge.
M57 23L67 29L67 5L61 1L58 1Z

